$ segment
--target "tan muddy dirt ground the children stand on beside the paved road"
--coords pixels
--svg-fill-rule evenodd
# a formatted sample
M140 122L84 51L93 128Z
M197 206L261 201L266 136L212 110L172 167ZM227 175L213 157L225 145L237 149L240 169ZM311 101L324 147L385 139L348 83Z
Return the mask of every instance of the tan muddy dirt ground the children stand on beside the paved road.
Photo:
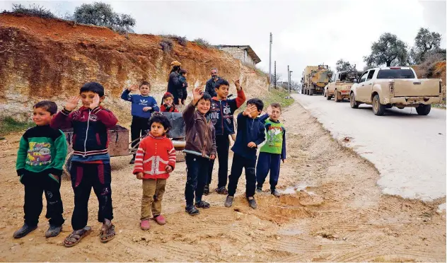
M243 199L243 182L231 209L224 197L205 199L212 208L196 217L184 211L185 163L168 180L163 214L168 223L139 229L141 181L132 176L128 157L112 158L112 198L117 237L102 244L91 198L93 233L76 247L62 241L71 231L73 192L62 185L64 232L44 238L43 216L34 233L12 238L22 224L23 187L14 162L19 136L0 141L1 261L446 261L446 214L436 213L445 199L422 203L381 194L379 174L366 160L344 149L298 103L283 114L288 133L288 160L281 168L277 199L257 194L252 210ZM241 180L242 181L242 180ZM212 187L215 187L213 181ZM265 185L268 189L268 185ZM45 208L44 208L45 209Z

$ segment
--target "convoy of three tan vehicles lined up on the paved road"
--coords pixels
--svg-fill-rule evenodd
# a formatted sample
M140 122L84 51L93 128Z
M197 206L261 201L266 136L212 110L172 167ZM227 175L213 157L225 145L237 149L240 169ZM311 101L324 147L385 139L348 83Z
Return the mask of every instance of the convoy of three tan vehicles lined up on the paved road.
M301 93L323 93L335 102L349 98L353 109L365 103L373 105L374 115L381 116L385 109L415 107L418 115L428 115L432 103L442 101L440 78L417 78L411 67L387 66L368 69L363 73L355 66L335 74L325 65L306 66L301 78Z

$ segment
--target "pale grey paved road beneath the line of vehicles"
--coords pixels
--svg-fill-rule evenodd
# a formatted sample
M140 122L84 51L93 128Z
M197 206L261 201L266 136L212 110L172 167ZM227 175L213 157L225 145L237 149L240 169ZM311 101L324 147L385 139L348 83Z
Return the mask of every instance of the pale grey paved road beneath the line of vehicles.
M414 108L373 114L370 105L352 109L321 95L293 95L336 139L352 137L348 146L381 173L385 194L431 201L446 196L446 110L419 116Z

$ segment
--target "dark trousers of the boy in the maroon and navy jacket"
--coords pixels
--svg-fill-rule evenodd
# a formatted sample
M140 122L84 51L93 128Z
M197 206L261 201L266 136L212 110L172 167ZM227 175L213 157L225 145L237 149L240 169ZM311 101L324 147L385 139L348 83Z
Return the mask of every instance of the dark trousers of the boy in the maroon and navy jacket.
M74 211L71 216L73 230L79 230L87 226L88 199L91 188L98 197L98 221L104 222L104 218L112 220L112 189L110 182L110 163L81 163L73 162L70 169L71 186L74 190Z

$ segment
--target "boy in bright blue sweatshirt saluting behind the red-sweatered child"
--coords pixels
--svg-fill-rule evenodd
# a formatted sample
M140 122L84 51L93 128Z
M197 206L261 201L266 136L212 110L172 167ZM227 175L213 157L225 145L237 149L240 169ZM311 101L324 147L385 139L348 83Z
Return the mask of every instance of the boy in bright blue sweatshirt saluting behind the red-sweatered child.
M141 95L130 95L131 91L139 89ZM139 143L139 137L146 134L146 131L151 129L149 127L149 119L152 112L159 112L155 98L149 96L151 91L151 83L143 81L141 85L133 85L122 92L121 98L132 102L132 124L130 125L130 134L132 138L132 148ZM135 163L135 153L130 160L130 164Z

